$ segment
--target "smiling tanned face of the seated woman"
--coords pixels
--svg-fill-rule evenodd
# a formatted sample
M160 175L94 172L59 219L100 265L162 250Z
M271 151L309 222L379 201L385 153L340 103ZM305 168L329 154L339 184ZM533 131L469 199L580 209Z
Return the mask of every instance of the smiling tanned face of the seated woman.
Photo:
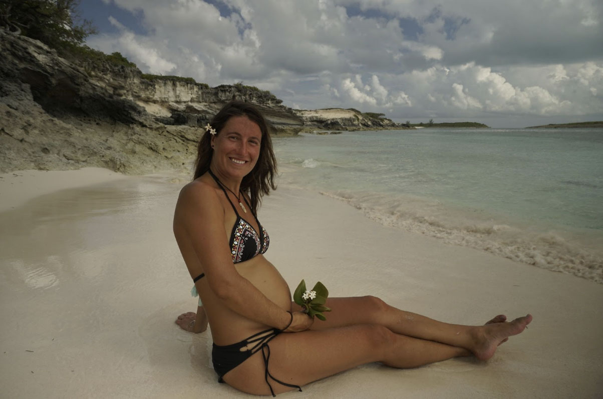
M220 173L242 179L253 170L260 154L262 131L247 116L233 116L212 136L212 164Z

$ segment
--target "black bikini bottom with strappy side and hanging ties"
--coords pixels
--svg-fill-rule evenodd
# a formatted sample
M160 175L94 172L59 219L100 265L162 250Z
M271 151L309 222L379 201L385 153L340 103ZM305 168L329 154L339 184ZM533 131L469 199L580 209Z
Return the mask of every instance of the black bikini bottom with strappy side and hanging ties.
M268 342L270 342L271 339L273 339L280 333L281 331L279 329L268 329L260 331L257 334L251 335L247 339L244 339L241 342L237 342L236 344L224 346L213 344L213 370L218 373L218 382L224 382L224 380L222 379L222 377L224 377L224 374L228 373L230 370L237 367L245 360L249 359L252 354L261 350L262 357L264 357L264 365L266 366L264 376L266 379L266 383L268 384L268 388L270 388L271 394L273 396L276 396L274 395L274 391L272 389L272 386L270 385L270 382L268 382L268 377L270 377L281 385L289 386L291 388L297 388L301 392L300 386L291 385L286 382L279 381L274 378L272 374L270 374L270 372L268 371L268 360L270 359L270 347L268 346Z

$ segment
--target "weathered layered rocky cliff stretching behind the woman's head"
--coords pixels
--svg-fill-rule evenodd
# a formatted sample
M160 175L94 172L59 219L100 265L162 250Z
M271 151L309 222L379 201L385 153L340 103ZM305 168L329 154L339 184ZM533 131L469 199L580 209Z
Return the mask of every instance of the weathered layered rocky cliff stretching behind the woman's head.
M189 171L201 126L235 97L256 104L276 134L391 123L371 122L359 111L292 110L242 84L209 87L108 62L72 63L2 29L0 52L0 172L84 166L128 174Z

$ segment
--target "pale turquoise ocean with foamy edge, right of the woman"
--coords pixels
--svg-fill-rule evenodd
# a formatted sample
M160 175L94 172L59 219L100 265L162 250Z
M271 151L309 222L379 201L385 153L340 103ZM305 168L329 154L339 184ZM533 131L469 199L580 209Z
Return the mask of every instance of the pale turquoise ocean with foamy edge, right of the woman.
M278 184L385 224L603 283L603 129L274 138Z

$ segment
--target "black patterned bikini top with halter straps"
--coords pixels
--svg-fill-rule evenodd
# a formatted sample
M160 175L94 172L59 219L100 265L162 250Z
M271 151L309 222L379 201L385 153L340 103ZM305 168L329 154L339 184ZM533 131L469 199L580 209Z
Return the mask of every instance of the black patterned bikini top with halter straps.
M268 245L270 245L270 238L268 237L268 233L262 227L259 220L257 220L256 215L251 210L251 206L247 202L247 199L243 194L243 200L247 204L248 208L251 210L253 217L256 218L257 226L260 229L260 234L258 235L256 229L251 226L244 218L239 215L239 212L236 211L235 205L230 200L230 197L224 190L224 185L221 181L216 178L216 176L212 173L211 170L208 171L212 176L213 180L219 185L219 187L224 191L224 195L230 202L230 206L232 206L233 211L236 214L235 226L232 227L232 232L230 233L230 253L232 255L232 262L239 263L245 262L259 253L265 253L268 250ZM193 282L197 282L197 280L201 279L205 276L205 273L199 274L197 277L193 279Z

